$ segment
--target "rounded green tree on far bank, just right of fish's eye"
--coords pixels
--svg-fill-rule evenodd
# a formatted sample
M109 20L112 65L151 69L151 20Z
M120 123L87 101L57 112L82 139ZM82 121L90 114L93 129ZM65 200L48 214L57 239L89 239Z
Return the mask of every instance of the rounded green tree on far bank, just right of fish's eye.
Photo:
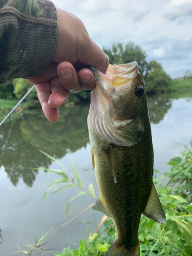
M152 60L148 63L145 75L145 87L147 92L166 91L171 81L172 79L166 74L160 63L156 60Z

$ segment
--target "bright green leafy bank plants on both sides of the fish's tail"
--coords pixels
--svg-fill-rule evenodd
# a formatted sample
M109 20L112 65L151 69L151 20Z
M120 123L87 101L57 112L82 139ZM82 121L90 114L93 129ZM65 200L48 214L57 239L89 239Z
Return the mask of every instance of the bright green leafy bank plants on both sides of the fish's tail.
M192 143L190 142L191 147ZM168 163L172 168L161 179L154 179L167 222L158 224L142 215L139 226L141 256L191 256L192 249L192 151L186 147L181 157ZM165 178L167 185L163 185ZM177 183L177 185L176 185ZM183 184L183 185L182 185ZM172 185L172 186L170 186ZM173 186L175 186L173 188ZM108 227L108 228L106 228ZM56 256L104 256L115 237L111 220L104 222L104 235L89 233L77 249L64 248ZM98 246L99 245L99 246ZM102 251L102 249L104 251Z

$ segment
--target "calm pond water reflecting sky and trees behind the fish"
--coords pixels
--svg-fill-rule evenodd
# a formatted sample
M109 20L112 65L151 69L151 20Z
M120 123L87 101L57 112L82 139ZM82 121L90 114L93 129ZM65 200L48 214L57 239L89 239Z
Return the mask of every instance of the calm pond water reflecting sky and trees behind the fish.
M191 97L191 92L148 97L155 154L154 167L161 172L168 169L166 162L184 150L183 143L188 145L191 140ZM24 244L33 243L36 237L39 239L50 228L52 230L48 235L48 243L44 247L53 248L54 252L62 251L65 246L69 246L69 242L72 248L76 248L79 240L87 236L87 229L95 230L92 209L84 212L70 224L59 228L62 223L94 203L95 199L89 195L76 198L71 203L65 219L69 200L78 194L80 189L72 187L61 190L46 197L39 206L46 191L44 188L59 177L35 169L40 166L61 168L58 163L40 153L39 148L58 159L74 176L70 154L72 152L82 186L88 189L90 183L96 184L95 174L91 172L88 111L88 104L78 105L72 109L63 108L56 123L47 121L40 110L33 114L23 114L14 121L6 144L11 122L6 122L0 128L0 146L4 148L0 164L0 228L4 242L0 244L0 255L8 256L10 253L25 249ZM50 192L59 187L52 188ZM94 188L98 197L96 186ZM98 211L94 211L94 214L98 224L103 214ZM84 224L83 221L93 224ZM32 255L41 253L34 252ZM46 255L53 254L48 252Z

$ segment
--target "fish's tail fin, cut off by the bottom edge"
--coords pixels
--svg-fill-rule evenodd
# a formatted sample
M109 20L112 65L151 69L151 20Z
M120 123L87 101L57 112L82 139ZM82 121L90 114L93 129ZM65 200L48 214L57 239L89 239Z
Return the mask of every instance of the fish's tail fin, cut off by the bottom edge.
M104 256L140 256L139 242L135 247L120 247L113 242Z

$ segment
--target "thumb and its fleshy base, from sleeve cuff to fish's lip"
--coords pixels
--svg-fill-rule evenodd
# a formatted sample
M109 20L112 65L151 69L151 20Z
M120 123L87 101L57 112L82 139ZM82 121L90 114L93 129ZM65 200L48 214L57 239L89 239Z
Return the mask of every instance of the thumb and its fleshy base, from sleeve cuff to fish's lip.
M81 20L57 8L57 22L57 48L53 60L80 62L106 73L109 58L90 38Z

